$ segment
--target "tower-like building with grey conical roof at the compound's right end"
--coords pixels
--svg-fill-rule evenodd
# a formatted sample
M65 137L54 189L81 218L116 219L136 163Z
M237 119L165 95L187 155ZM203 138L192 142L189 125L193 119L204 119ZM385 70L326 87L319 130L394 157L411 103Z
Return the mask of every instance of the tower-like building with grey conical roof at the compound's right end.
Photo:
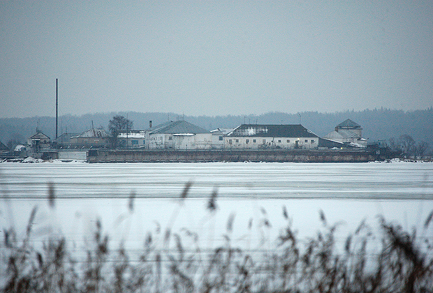
M351 119L346 119L342 123L339 123L339 125L335 126L334 131L328 133L323 138L342 142L351 147L367 147L367 140L362 138L362 127Z

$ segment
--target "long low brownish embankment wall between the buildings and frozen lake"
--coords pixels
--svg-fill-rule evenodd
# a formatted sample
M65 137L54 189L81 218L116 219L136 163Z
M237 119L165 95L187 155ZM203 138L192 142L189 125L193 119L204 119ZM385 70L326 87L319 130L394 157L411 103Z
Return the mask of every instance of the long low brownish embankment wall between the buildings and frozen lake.
M92 150L89 163L175 163L175 162L299 162L362 163L383 160L370 151L133 151Z

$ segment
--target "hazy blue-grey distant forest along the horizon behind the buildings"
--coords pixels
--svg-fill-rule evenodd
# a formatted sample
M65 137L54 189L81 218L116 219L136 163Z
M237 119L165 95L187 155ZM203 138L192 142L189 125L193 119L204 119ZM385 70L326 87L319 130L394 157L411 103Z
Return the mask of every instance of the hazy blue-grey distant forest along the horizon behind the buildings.
M248 124L299 124L324 136L334 130L335 126L346 119L351 119L362 126L362 136L370 143L379 140L397 139L401 135L411 135L416 142L427 142L433 147L433 107L427 110L402 111L386 108L346 111L335 113L300 112L288 114L269 112L260 115L226 115L226 116L184 116L175 113L138 113L138 112L110 112L73 116L66 114L59 117L58 135L61 133L82 133L85 130L104 128L107 130L108 121L115 115L122 115L133 121L133 128L144 130L149 128L149 121L153 126L166 121L184 119L207 130L216 128L235 128L242 123ZM36 128L54 139L55 117L31 118L3 118L0 119L0 142L12 144L26 142L27 137L36 133Z

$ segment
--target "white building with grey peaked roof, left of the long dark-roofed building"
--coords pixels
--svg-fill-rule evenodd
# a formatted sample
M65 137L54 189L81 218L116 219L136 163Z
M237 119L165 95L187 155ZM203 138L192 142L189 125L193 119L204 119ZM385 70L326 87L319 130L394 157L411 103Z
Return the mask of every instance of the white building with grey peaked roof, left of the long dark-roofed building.
M186 121L170 121L147 130L149 149L212 149L212 133Z

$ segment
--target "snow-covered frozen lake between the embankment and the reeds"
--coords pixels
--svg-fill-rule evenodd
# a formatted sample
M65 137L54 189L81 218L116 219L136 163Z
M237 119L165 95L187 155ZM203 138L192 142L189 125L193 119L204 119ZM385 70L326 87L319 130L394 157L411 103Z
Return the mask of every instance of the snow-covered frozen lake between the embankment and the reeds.
M186 199L179 200L189 181ZM96 219L129 249L142 247L147 232L182 234L184 228L199 235L202 248L229 233L237 245L255 249L270 246L287 224L283 206L301 238L321 227L320 210L328 223L342 221L340 242L363 219L376 225L382 215L410 230L433 210L433 163L1 163L0 183L2 233L13 226L23 236L38 206L33 241L61 231L78 250ZM210 212L214 190L217 211ZM234 218L231 232L228 218Z

